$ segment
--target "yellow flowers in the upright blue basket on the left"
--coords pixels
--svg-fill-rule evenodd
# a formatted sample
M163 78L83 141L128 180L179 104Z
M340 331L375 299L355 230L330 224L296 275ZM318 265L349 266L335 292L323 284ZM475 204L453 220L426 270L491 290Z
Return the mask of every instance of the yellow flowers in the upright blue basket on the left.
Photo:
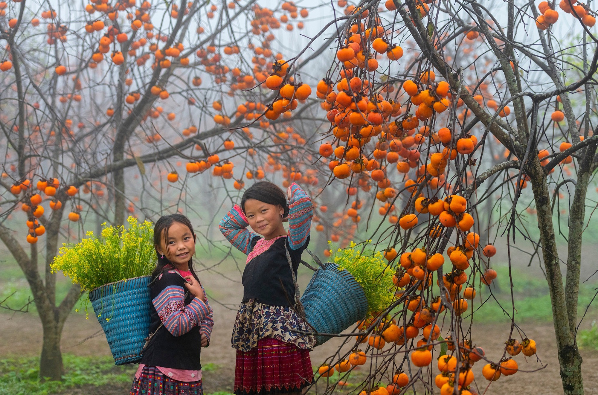
M77 244L63 244L51 264L81 289L91 291L115 281L147 276L155 266L154 229L149 221L127 218L129 227L106 226L99 236L87 232Z

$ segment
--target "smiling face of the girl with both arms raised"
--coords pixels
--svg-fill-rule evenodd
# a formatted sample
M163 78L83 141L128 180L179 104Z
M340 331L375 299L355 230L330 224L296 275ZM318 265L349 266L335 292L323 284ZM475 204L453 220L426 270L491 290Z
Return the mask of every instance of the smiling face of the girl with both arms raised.
M284 209L280 205L264 203L256 199L247 199L245 202L245 217L249 226L267 240L286 235L282 224L283 213Z

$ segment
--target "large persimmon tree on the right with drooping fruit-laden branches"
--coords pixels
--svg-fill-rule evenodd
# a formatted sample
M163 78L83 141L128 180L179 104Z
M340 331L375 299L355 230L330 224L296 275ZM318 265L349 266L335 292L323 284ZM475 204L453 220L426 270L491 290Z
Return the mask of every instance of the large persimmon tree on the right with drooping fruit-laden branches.
M336 227L364 224L396 268L397 289L392 305L358 323L356 341L347 338L320 367L322 381L332 370L346 378L367 363L366 354L372 358L364 395L402 394L417 382L424 393L434 384L441 394L483 391L471 370L482 359L489 385L501 373L534 370L512 358L536 353L514 303L502 306L512 320L504 350L485 353L471 344L476 288L496 278L489 267L496 248L481 244L490 228L476 218L498 192L496 204L510 214L494 226L507 233L509 250L523 236L542 257L563 390L583 393L576 329L588 185L598 163L594 11L568 0L495 8L477 1L336 5L348 19L335 21L335 57L317 85L330 122L319 148L329 170L320 170L346 191L348 205L328 229L316 230L338 240ZM556 206L563 187L572 196ZM384 203L383 221L375 216L376 200ZM555 230L563 209L566 235ZM537 230L522 220L525 212ZM565 258L559 240L568 243ZM435 378L432 353L441 356ZM325 381L325 392L337 384Z

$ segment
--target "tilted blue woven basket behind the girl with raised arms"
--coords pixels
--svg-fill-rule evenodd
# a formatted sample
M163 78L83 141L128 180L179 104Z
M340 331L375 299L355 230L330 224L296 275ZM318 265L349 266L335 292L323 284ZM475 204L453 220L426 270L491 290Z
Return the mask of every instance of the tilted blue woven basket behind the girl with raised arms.
M318 333L341 333L362 320L368 311L364 289L349 272L337 268L335 263L325 263L301 297L307 322ZM328 339L329 336L316 336L316 345Z

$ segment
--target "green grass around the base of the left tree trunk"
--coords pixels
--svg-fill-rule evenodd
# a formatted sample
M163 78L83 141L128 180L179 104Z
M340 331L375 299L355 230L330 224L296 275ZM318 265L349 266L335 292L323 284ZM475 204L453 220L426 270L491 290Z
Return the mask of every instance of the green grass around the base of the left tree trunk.
M62 394L69 388L91 385L128 384L132 382L138 365L116 366L109 356L78 357L62 354L65 375L62 382L39 381L39 357L8 357L0 360L0 394L51 395ZM215 363L202 366L203 372L218 369ZM219 392L210 395L225 395Z

